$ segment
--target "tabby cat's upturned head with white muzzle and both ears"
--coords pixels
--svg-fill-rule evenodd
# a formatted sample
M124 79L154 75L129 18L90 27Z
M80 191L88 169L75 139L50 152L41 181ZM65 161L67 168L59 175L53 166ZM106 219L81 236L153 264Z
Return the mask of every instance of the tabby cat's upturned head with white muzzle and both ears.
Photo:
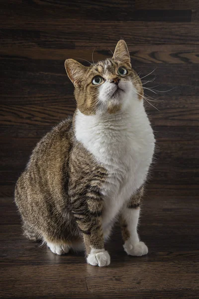
M77 107L86 115L117 113L131 101L141 101L143 88L132 69L127 45L120 40L112 58L87 67L74 59L65 61L66 72L75 86Z

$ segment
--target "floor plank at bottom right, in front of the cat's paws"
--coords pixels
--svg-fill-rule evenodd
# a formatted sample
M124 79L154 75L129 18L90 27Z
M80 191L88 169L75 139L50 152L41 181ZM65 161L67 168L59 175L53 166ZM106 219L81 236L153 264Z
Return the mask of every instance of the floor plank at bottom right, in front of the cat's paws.
M189 265L189 268L188 268ZM102 292L109 290L166 290L166 289L194 289L199 291L199 272L196 270L198 264L181 263L156 263L150 264L150 267L144 264L125 265L125 274L122 274L122 265L120 274L111 276L113 272L107 268L106 277L95 275L87 278L87 286L91 292ZM110 270L109 270L110 269ZM158 275L157 275L158 273ZM185 286L186 281L186 286Z

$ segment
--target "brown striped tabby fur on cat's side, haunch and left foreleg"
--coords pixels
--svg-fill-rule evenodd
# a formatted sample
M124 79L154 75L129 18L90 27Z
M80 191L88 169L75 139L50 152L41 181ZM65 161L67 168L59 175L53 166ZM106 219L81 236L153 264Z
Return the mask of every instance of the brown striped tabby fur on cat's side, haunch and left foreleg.
M100 186L106 176L75 141L72 120L59 124L37 144L15 187L24 235L70 246L86 235L88 250L103 248Z

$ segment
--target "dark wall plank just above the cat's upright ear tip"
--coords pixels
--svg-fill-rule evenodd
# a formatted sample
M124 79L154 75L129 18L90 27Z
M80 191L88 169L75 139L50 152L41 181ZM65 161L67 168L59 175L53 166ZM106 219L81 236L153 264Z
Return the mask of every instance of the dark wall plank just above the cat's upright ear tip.
M162 22L118 21L115 26L114 21L69 22L66 17L51 18L46 15L44 18L35 15L30 18L28 15L21 15L10 18L6 14L2 15L1 22L3 30L24 30L25 27L26 30L54 31L54 36L57 32L62 32L62 35L65 34L65 42L75 43L75 46L115 46L120 38L125 38L128 44L199 44L197 23L181 23L179 26L179 23L168 22L167 26L162 26Z

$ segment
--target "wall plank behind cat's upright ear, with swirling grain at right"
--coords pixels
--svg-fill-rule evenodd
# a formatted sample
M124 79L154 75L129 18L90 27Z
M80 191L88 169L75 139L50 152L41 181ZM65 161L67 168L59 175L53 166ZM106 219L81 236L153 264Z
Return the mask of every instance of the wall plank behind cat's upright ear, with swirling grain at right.
M31 32L23 36L23 30L18 30L18 34L14 35L12 30L7 29L7 34L4 38L1 37L0 59L44 59L44 60L64 60L66 58L80 57L92 61L92 53L95 46L76 46L71 49L71 45L67 45L64 41L65 35L60 33L56 35L59 42L55 46L55 39L53 36L45 38L40 35L39 39L34 39ZM28 38L29 36L29 38ZM33 39L33 40L32 40ZM52 42L52 44L51 44ZM54 46L53 46L54 44ZM114 51L114 45L111 50ZM128 49L131 56L132 64L138 62L142 63L199 63L199 45L181 45L181 44L134 44L128 43ZM94 51L94 61L103 60L112 56L108 45L99 46ZM8 60L7 60L8 61ZM84 63L83 60L79 60ZM63 64L63 63L62 63Z

